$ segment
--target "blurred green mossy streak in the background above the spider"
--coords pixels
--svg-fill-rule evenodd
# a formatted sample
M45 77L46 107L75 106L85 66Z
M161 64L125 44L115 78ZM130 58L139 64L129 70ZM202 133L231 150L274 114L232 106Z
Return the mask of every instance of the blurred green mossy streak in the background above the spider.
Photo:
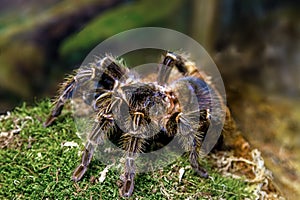
M182 0L143 0L112 8L92 20L81 32L70 36L62 44L60 53L67 56L76 51L90 49L122 31L149 26L176 15L176 10L182 4Z

